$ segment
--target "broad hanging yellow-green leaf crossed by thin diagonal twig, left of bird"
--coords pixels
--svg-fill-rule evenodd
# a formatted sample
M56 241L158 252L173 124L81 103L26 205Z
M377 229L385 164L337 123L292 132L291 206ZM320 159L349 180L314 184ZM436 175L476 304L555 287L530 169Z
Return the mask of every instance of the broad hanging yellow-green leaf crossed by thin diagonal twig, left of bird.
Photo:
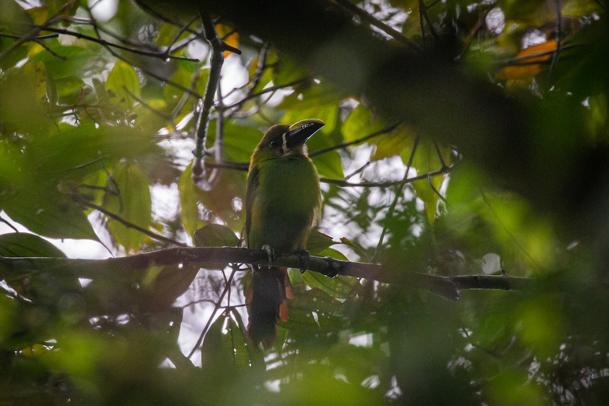
M119 195L106 193L104 209L129 223L148 229L152 223L152 199L146 173L135 164L122 163L114 171L114 183ZM127 251L136 250L146 240L146 234L118 220L109 218L108 230Z

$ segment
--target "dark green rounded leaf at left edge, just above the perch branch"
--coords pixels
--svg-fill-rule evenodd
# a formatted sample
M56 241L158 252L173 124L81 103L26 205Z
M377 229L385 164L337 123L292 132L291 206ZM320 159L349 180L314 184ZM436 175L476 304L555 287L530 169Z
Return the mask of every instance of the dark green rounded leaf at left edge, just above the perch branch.
M66 257L62 250L52 243L29 233L0 235L0 255L5 257Z

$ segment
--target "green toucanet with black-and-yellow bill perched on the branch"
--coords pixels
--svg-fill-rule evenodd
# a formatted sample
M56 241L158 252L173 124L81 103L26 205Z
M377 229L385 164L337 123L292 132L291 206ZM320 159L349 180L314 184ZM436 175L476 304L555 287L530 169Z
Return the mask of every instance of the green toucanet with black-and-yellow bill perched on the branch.
M319 220L322 194L317 169L305 142L324 122L306 119L270 127L250 159L245 193L245 243L264 249L269 258L298 253L308 256L309 230ZM287 321L286 298L294 299L287 268L253 267L246 295L247 331L255 346L269 349L279 319Z

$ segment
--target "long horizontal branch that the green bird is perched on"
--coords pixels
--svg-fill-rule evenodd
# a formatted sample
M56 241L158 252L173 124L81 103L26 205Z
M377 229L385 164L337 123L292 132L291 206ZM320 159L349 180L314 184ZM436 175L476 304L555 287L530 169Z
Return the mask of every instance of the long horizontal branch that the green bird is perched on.
M0 276L19 278L32 273L69 273L80 278L100 276L128 276L134 270L159 265L228 265L233 263L269 265L266 251L237 247L166 248L133 256L108 259L69 259L48 257L2 257ZM298 256L280 257L274 265L300 268ZM186 268L186 267L185 267ZM343 275L371 279L383 283L404 284L426 289L447 299L459 299L460 290L501 289L522 290L532 285L533 279L516 276L465 275L437 276L407 270L395 270L378 264L339 261L330 257L311 257L308 270L323 275ZM118 274L118 275L117 275ZM10 275L10 276L9 276Z

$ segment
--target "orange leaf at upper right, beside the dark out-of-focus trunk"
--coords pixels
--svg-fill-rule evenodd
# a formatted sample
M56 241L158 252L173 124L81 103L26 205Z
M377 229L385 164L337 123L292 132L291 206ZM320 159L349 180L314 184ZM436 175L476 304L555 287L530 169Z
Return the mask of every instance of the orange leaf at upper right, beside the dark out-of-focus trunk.
M530 46L518 52L515 61L518 65L506 66L496 75L497 79L529 79L547 69L552 53L556 51L556 40Z

